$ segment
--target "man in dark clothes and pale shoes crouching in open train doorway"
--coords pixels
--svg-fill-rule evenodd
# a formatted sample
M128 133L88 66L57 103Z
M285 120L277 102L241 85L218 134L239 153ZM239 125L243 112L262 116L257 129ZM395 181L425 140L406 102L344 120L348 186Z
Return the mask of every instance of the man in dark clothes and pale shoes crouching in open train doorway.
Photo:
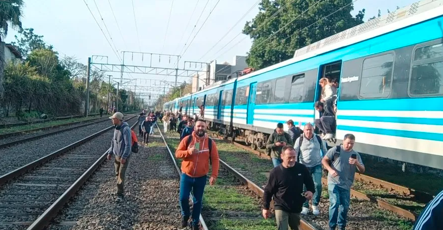
M323 102L316 101L314 107L320 112L320 119L315 119L314 124L322 132L322 139L334 138L336 122L332 103L327 103L325 106Z

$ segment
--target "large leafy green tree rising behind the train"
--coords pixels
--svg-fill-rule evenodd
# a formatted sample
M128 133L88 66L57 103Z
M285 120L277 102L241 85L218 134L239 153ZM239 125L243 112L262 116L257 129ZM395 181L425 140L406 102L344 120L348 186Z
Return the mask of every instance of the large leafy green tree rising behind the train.
M290 59L296 49L362 24L365 15L362 10L351 16L352 0L287 2L262 0L259 13L246 22L243 34L253 40L246 58L249 67L261 69ZM280 9L283 10L277 13Z

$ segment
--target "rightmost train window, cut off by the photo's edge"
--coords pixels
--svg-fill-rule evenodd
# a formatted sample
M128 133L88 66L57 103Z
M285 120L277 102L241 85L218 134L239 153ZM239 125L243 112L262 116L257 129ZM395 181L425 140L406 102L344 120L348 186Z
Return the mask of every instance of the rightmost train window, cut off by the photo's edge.
M409 81L411 95L443 94L443 44L415 49Z

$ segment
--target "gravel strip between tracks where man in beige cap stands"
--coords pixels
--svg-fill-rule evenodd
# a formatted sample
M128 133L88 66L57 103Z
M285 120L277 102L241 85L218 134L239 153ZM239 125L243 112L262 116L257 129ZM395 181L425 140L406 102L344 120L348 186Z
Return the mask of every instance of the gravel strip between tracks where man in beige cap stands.
M114 160L105 161L47 229L182 229L180 180L157 131L147 147L139 137L139 152L131 153L123 202L110 195L116 189Z

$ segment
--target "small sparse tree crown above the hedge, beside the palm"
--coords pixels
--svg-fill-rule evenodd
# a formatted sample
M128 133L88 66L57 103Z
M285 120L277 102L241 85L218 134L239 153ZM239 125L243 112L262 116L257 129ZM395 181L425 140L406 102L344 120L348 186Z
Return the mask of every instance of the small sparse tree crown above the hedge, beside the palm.
M27 58L29 53L31 53L34 50L38 49L49 49L52 50L52 45L46 45L46 43L43 41L43 36L34 34L34 29L27 28L27 29L20 29L19 30L19 37L14 36L17 40L17 42L12 42L11 44L20 51L23 58Z

